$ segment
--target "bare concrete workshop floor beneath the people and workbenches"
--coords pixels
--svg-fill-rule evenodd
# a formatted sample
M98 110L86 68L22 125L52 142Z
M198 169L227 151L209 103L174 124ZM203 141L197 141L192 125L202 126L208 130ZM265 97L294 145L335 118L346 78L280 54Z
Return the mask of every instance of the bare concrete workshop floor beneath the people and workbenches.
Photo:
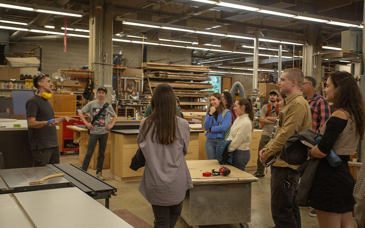
M81 167L78 161L78 154L61 155L61 163L72 163ZM88 173L96 175L95 170L89 169ZM254 171L248 171L254 173ZM146 221L153 227L153 212L151 205L143 198L138 191L139 181L121 183L110 178L110 169L103 170L105 182L118 189L117 196L110 199L110 210L127 209L134 215ZM104 200L98 200L104 205ZM252 201L251 201L251 223L250 228L268 228L273 227L274 222L271 217L270 210L270 170L264 178L260 178L260 182L252 183ZM310 217L309 208L300 208L301 225L303 228L319 227L315 217ZM188 228L189 225L180 217L175 226L176 228ZM147 228L147 227L146 227ZM208 225L202 228L239 228L239 224L229 225Z

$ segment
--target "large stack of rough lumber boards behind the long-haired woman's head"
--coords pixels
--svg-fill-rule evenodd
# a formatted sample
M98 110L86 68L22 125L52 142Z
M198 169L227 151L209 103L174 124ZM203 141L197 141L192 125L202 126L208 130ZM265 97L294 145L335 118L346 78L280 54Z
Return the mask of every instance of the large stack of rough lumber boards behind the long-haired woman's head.
M150 88L153 92L157 85L169 84L180 98L180 105L184 109L205 106L206 102L201 102L200 98L214 93L207 66L145 62L142 63L142 68L145 71L144 81L147 83L144 88Z

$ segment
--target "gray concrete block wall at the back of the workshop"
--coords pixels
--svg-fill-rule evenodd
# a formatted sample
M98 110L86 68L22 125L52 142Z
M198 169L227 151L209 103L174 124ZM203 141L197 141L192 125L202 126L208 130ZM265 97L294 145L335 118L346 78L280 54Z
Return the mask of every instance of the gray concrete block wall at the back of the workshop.
M64 52L63 40L42 40L26 42L42 46L42 73L53 74L58 69L81 68L88 65L88 40L77 39L67 40L67 49ZM10 53L21 53L22 51L29 51L35 46L11 45ZM139 67L141 65L141 49L142 45L134 43L120 43L114 42L113 53L119 53L122 49L123 58L126 59L125 64L129 62L130 67ZM36 50L35 55L39 55ZM164 59L158 63L169 63L170 61L177 62L176 64L191 64L191 50L162 47L162 46L147 46L147 61Z

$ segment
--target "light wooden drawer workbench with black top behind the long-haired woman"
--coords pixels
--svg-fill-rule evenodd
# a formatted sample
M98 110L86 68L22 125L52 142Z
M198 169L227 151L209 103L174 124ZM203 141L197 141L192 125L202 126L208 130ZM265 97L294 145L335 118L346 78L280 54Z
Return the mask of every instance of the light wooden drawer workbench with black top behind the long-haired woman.
M199 160L199 130L190 131L186 160ZM116 181L140 179L144 167L134 171L129 168L133 155L138 150L138 129L111 130L110 175Z

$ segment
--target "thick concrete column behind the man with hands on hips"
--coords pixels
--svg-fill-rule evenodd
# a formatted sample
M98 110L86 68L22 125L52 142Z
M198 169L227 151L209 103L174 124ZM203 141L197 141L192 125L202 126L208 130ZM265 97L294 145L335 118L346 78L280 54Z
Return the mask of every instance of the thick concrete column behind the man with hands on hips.
M113 73L113 14L107 12L111 0L90 1L89 69L94 70L94 88L104 86L108 93L105 101L111 104ZM100 12L96 12L100 6Z

